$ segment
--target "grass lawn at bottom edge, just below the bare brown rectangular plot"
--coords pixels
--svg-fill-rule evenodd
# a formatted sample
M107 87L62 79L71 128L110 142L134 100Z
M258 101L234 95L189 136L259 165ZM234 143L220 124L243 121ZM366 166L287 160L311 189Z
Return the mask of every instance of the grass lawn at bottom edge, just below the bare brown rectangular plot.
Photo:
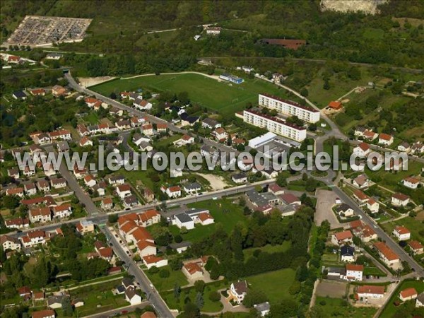
M325 305L321 305L320 302ZM322 317L350 317L350 318L363 318L373 317L377 308L375 307L353 307L345 305L340 298L317 297L315 306L323 312Z

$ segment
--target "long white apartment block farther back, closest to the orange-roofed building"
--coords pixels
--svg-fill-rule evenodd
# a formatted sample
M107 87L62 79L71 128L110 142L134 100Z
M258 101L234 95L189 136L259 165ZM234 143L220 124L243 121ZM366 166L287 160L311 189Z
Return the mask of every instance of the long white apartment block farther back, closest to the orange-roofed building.
M259 106L276 110L282 114L289 116L297 116L305 122L319 122L319 110L292 102L291 100L283 100L269 94L259 94Z

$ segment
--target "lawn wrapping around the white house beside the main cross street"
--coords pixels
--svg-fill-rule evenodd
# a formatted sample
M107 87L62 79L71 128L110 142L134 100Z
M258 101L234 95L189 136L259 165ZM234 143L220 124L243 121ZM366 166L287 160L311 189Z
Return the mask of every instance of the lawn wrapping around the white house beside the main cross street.
M208 208L209 213L215 219L215 223L211 225L197 225L195 229L189 230L187 234L182 235L184 240L191 242L199 241L215 231L216 224L220 223L223 229L230 233L237 223L246 223L247 218L243 214L242 207L237 204L232 204L230 199L208 200L188 204L189 208ZM170 230L173 235L179 233L179 228L172 225Z

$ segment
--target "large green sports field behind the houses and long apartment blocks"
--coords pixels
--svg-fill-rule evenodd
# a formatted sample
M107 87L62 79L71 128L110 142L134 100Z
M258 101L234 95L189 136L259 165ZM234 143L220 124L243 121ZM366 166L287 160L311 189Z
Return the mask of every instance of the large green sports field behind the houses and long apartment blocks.
M258 78L245 78L245 83L231 84L218 82L216 79L196 73L116 79L90 87L91 90L106 96L109 96L112 92L119 93L138 88L155 92L170 90L173 93L180 93L185 91L189 93L192 102L222 114L234 114L243 110L247 102L256 105L259 93L270 93L281 98L288 98L285 90ZM293 100L293 98L290 99Z

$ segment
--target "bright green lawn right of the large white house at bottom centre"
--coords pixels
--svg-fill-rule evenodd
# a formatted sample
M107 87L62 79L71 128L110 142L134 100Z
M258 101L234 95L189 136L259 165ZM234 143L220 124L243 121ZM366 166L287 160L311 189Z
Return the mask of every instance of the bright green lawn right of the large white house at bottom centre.
M280 269L269 271L259 275L246 278L250 288L263 291L269 299L271 305L278 304L284 298L293 298L288 289L295 281L295 271L293 269Z

